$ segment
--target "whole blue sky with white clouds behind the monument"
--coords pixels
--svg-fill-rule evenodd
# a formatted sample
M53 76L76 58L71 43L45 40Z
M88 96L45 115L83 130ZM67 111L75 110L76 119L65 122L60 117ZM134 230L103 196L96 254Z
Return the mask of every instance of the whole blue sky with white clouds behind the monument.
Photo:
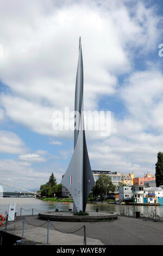
M111 111L111 134L86 131L92 169L154 174L163 151L163 4L159 1L0 0L1 182L39 188L65 173L82 36L84 110Z

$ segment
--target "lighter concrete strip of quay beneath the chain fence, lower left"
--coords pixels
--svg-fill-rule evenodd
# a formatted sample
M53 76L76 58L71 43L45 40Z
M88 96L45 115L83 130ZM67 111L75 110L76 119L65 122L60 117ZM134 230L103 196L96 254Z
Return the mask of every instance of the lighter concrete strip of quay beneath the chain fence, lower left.
M35 218L30 218L30 217L26 217L26 219L28 220L29 223L33 224L33 225L40 225L42 223L41 220L37 220ZM44 223L46 221L43 221ZM79 223L77 225L77 227L74 227L74 229L72 229L70 227L69 230L67 230L67 232L70 232L69 234L65 234L62 233L60 231L57 231L53 228L54 225L55 227L55 223L50 222L49 223L49 240L48 240L48 244L49 245L83 245L84 242L84 228L81 229L81 235L76 235L74 234L70 234L72 231L77 230L81 227L83 227L83 223ZM21 222L17 222L16 223L16 227L14 229L14 226L12 227L8 227L7 231L9 233L12 233L14 235L17 236L22 236L22 227L23 227L23 223ZM59 227L58 227L59 229ZM62 231L64 231L64 229L62 229ZM37 244L47 244L47 222L45 223L45 225L43 225L42 227L33 227L32 225L29 225L27 222L24 225L24 239L27 240L31 240L36 242ZM98 239L92 239L90 237L86 237L86 244L87 245L103 245L103 243L101 241L99 241Z

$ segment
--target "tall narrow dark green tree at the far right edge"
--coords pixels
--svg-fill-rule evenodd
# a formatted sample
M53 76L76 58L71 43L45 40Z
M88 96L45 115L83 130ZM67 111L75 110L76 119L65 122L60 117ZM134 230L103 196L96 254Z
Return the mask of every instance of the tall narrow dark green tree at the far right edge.
M155 164L155 181L156 186L163 185L163 153L158 153L158 161Z

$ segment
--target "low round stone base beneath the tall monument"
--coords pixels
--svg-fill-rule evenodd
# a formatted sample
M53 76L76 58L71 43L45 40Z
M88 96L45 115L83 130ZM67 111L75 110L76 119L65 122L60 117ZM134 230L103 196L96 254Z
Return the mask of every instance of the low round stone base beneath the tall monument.
M73 215L72 211L41 212L39 218L49 221L68 221L68 222L96 222L108 219L116 219L118 214L115 212L87 211L89 215Z

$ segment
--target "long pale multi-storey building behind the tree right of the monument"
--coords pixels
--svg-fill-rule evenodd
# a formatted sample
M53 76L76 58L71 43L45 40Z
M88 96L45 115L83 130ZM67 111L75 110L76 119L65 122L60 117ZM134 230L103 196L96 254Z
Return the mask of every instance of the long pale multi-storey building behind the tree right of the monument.
M93 177L98 180L100 174L108 175L111 178L113 185L119 186L121 182L121 173L120 172L111 172L110 170L92 170Z

